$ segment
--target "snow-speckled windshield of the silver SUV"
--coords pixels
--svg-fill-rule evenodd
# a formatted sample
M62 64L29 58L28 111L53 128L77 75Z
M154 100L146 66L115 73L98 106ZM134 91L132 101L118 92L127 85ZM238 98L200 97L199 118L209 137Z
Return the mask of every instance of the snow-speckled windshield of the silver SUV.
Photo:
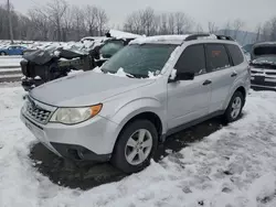
M148 77L149 73L158 75L174 48L176 45L128 45L106 62L102 70L115 74L124 69L138 78Z

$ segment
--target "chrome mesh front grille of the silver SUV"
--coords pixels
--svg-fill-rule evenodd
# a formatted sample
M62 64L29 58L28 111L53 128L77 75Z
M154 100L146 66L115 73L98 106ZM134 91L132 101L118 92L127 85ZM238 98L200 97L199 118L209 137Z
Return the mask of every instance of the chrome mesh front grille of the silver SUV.
M46 123L51 111L42 109L40 106L28 101L26 102L26 116L40 123Z

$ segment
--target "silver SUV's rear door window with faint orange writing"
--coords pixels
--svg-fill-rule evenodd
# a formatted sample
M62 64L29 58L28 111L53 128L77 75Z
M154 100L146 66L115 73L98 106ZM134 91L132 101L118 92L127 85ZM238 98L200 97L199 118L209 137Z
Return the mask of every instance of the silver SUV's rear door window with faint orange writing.
M206 44L206 64L210 72L229 67L230 58L223 44Z

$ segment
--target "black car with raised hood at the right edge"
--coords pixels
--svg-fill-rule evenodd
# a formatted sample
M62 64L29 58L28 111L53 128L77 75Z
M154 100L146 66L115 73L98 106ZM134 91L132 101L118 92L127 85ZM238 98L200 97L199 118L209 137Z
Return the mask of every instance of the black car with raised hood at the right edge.
M276 90L276 42L255 44L251 59L252 88Z

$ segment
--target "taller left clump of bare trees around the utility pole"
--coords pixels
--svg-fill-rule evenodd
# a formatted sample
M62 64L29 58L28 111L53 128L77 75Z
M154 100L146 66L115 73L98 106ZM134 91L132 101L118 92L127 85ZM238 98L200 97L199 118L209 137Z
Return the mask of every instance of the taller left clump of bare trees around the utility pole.
M68 4L66 0L34 7L26 15L11 11L14 40L78 41L91 35L104 35L108 17L104 9ZM10 37L8 9L0 4L0 40Z

